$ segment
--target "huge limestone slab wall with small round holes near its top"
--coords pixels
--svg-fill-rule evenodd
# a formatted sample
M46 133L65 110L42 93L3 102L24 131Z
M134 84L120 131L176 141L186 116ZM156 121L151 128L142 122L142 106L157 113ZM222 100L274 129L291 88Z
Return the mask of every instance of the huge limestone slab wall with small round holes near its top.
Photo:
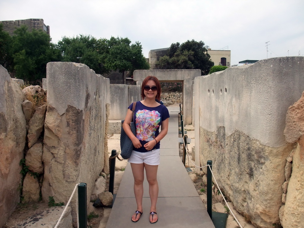
M295 148L283 134L285 117L301 97L303 72L303 57L279 57L195 78L195 161L213 161L220 188L258 227L280 223Z

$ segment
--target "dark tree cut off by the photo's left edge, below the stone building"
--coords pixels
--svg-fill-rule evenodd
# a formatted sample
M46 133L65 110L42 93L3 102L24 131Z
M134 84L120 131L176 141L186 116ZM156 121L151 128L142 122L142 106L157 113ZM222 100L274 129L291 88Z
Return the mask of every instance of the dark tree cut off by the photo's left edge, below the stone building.
M3 24L0 23L0 65L5 67L8 71L13 62L11 43L12 37L8 32L3 31Z

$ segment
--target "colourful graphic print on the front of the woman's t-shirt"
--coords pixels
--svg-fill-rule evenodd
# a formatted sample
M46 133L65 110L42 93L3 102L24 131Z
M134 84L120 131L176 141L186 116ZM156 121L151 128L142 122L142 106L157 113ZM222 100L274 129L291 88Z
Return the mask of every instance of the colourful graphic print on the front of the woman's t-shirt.
M138 110L136 112L136 137L142 141L153 140L160 121L161 115L158 111Z

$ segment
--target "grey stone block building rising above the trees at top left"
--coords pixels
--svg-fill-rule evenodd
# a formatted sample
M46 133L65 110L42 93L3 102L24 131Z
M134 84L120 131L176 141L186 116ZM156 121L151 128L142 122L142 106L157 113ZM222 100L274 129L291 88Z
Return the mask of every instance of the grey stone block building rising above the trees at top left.
M3 24L3 31L9 33L9 35L14 35L14 31L25 25L31 32L32 29L42 29L47 34L50 35L50 26L45 25L43 19L25 19L25 20L15 20L15 21L0 21Z

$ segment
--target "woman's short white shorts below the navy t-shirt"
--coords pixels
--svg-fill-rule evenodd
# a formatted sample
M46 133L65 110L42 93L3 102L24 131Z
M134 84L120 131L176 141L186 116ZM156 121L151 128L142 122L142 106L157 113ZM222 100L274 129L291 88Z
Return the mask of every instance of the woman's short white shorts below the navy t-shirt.
M135 164L159 165L160 149L154 149L148 152L138 152L133 150L128 162Z

